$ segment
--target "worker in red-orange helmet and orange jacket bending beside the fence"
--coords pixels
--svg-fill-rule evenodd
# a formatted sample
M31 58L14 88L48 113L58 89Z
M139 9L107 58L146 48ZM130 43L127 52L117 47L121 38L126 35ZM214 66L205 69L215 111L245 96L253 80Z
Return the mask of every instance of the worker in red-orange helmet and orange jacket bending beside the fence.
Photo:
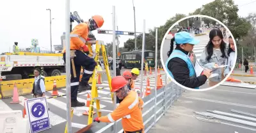
M115 92L119 99L123 101L107 116L95 118L94 122L115 122L122 118L122 126L126 133L144 132L141 106L143 101L139 101L136 92L129 90L127 80L123 76L115 76L111 81L111 92Z

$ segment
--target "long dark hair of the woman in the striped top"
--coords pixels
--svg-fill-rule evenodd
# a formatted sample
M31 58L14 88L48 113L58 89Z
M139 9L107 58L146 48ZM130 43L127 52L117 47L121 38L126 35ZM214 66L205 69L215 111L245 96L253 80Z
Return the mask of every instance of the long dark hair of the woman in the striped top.
M221 57L225 57L227 58L226 54L225 54L225 48L226 48L226 43L223 41L223 34L222 32L220 31L220 29L212 29L209 33L209 38L210 38L210 41L208 42L208 44L205 46L206 50L207 50L207 53L208 53L208 56L206 57L206 59L209 61L212 57L212 54L213 54L213 43L212 43L212 39L215 37L215 36L219 36L221 38L221 44L220 44L220 50L221 50Z

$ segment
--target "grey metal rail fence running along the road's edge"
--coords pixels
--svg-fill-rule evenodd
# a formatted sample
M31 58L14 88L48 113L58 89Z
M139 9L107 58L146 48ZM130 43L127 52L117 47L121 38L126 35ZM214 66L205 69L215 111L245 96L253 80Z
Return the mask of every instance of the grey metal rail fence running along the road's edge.
M168 83L166 80L166 85L157 90L157 95L152 91L150 95L143 98L144 106L142 116L145 125L145 133L156 124L156 122L166 113L167 109L172 106L173 101L176 101L184 91L184 88L179 87L173 82ZM103 130L100 129L98 132L114 132L114 129L116 129L118 133L122 133L124 130L122 129L120 120L116 121L116 127L113 126L114 123L109 123L106 127L102 128Z

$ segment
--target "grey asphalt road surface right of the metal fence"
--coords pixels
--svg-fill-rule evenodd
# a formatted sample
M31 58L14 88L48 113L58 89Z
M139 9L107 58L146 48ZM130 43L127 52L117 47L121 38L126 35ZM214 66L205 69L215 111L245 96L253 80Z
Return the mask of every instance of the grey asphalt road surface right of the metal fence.
M195 115L194 113L194 111L206 112L207 110L231 113L230 110L235 109L256 115L255 96L256 90L237 87L219 86L205 92L191 92L186 90L149 133L256 132L256 127L236 123L241 122L241 119L237 119L236 122L227 122L214 118L210 119L211 122L204 122L209 120L198 120L205 117ZM213 120L219 122L212 122ZM256 125L256 122L253 123Z

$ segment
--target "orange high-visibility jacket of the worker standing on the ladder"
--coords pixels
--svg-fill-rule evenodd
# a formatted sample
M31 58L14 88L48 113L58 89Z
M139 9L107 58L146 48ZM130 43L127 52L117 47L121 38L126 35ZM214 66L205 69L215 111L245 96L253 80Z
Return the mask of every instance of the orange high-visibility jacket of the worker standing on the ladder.
M88 38L88 34L88 24L80 23L76 25L70 33L70 50L82 50L82 47L85 45L86 39ZM61 53L65 52L66 48L63 48Z

